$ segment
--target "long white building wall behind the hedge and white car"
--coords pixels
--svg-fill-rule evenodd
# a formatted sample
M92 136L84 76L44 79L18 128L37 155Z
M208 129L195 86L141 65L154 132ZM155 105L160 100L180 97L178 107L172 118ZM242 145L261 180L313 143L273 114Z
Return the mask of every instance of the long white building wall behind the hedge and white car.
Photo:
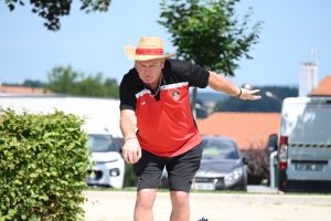
M122 137L119 128L119 99L90 98L66 95L17 95L0 94L0 107L12 108L17 113L49 114L63 110L65 114L75 114L87 117L85 126L106 128L114 137Z

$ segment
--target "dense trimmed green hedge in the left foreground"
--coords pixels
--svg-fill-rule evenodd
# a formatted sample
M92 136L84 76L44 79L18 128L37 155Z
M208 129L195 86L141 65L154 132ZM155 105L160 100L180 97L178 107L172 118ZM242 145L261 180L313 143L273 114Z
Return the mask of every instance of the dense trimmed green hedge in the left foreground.
M85 119L0 112L0 221L82 220L90 156Z

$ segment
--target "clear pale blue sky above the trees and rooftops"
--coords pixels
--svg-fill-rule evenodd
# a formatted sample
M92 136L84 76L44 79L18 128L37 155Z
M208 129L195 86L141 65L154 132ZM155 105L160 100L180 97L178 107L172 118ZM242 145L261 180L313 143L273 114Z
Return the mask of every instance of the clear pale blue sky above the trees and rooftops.
M9 12L0 0L0 81L4 83L47 82L47 72L67 65L119 83L134 65L124 46L136 46L141 35L161 36L164 50L175 51L166 28L157 23L157 0L113 0L108 12L89 14L79 10L76 0L57 32L47 31L25 2ZM252 24L264 24L259 43L249 53L254 60L239 61L241 69L231 77L235 84L298 85L300 63L312 61L311 50L319 51L319 81L331 74L331 1L242 0L237 14L248 7L254 10Z

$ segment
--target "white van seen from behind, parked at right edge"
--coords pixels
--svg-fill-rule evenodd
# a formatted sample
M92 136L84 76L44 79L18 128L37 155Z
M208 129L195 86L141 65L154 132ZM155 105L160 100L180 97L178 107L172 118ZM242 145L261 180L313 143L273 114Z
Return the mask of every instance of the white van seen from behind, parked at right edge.
M278 149L279 190L331 192L331 97L285 98L270 148Z

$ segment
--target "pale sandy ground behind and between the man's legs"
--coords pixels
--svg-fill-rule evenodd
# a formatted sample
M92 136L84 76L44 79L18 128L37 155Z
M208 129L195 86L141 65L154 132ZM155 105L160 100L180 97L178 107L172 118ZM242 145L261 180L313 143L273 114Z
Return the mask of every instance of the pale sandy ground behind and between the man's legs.
M252 190L252 189L250 189ZM331 221L331 196L190 193L191 220ZM267 191L267 189L266 189ZM274 190L268 190L274 191ZM132 221L136 192L86 191L86 221ZM154 221L169 221L169 192L158 192Z

